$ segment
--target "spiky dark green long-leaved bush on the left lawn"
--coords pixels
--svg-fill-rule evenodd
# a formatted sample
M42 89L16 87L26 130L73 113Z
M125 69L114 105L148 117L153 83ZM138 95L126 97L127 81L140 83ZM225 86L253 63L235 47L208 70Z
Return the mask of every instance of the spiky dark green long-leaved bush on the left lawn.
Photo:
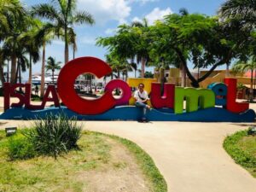
M38 154L51 155L56 159L62 152L78 148L82 129L76 119L68 119L65 114L49 114L34 124L35 128L27 131L26 137L33 143Z

